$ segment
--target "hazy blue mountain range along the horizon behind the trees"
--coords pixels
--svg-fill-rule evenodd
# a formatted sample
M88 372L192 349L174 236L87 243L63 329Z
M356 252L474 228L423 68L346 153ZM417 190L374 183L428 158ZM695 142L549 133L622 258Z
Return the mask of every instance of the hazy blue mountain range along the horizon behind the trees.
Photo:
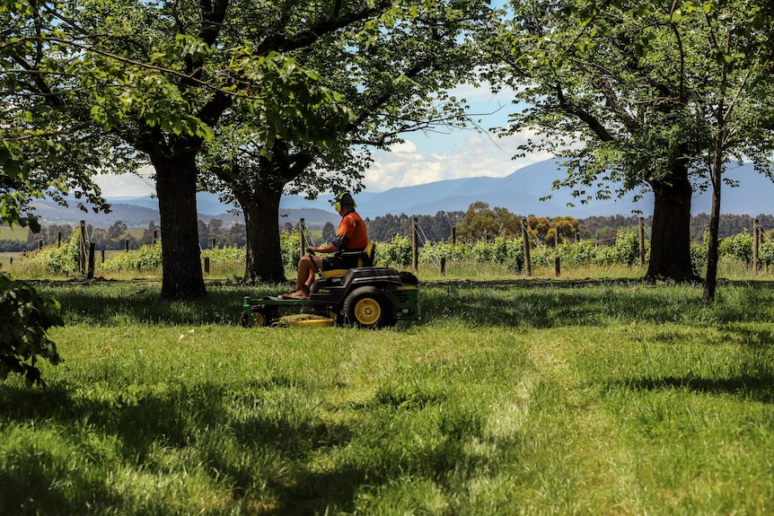
M364 218L384 214L435 215L439 211L465 211L476 201L488 203L492 208L506 208L513 214L538 215L553 218L569 215L576 219L588 216L653 214L653 195L646 193L638 202L634 194L620 199L592 200L580 204L571 192L562 188L552 190L555 180L563 179L566 171L559 162L549 160L523 167L505 177L475 177L445 179L432 183L391 188L383 192L363 191L357 194L357 211ZM739 187L724 185L721 212L723 214L774 213L774 182L752 169L752 165L732 163L726 171L726 179L738 182ZM552 196L548 200L541 197ZM330 206L330 196L310 201L301 196L283 197L280 203L280 223L286 220L296 223L303 218L310 226L326 222L338 223L339 215ZM242 215L228 213L233 206L219 202L214 194L198 194L199 219L207 223L221 219L225 224L242 223ZM693 214L709 213L711 195L696 193L692 199ZM129 228L145 228L150 221L158 223L158 201L154 197L110 197L110 214L84 213L75 207L64 208L48 200L36 201L36 213L44 225L69 223L75 225L84 220L94 227L109 227L117 221ZM568 205L575 206L568 206Z

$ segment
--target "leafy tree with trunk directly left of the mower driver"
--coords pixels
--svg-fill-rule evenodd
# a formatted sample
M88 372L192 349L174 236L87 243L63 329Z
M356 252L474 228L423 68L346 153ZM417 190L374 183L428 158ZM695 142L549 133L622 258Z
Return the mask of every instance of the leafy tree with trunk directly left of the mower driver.
M467 119L461 101L444 90L471 69L474 51L462 36L487 20L486 2L416 0L401 7L294 52L299 62L325 71L321 82L339 92L356 115L330 130L327 145L283 138L267 149L260 137L263 128L239 113L216 134L205 165L212 177L205 188L222 192L242 208L246 280L285 279L275 223L284 192L308 197L341 189L356 193L372 148L387 149L409 131Z

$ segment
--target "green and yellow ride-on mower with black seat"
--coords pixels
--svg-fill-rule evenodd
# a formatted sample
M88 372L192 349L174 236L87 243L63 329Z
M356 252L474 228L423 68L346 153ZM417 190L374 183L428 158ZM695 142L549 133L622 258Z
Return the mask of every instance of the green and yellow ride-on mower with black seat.
M357 260L349 269L317 270L308 300L244 298L242 326L332 326L385 328L399 320L419 320L418 279L391 267L373 267L374 242L363 251L345 251ZM288 312L300 309L298 315Z

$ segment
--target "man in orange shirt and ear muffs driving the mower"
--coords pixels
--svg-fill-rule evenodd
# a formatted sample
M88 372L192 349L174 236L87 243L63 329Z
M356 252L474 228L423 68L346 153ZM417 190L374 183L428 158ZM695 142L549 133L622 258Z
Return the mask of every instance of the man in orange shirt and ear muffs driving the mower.
M355 199L344 192L336 196L331 204L334 205L341 222L336 237L329 244L321 247L309 246L307 251L312 253L336 253L333 257L323 258L306 255L298 260L298 274L295 279L295 290L292 293L278 295L278 299L309 299L309 292L314 283L314 273L318 269L330 270L336 268L355 267L356 264L347 263L347 260L339 255L344 250L363 250L368 244L368 232L360 215L356 213Z

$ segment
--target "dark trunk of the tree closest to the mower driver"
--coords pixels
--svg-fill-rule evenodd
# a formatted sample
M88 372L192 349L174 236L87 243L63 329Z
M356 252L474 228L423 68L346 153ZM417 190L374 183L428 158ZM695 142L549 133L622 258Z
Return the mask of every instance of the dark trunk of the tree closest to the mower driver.
M253 193L234 192L242 206L247 231L244 280L285 283L285 266L279 242L279 200L282 189L256 188Z

